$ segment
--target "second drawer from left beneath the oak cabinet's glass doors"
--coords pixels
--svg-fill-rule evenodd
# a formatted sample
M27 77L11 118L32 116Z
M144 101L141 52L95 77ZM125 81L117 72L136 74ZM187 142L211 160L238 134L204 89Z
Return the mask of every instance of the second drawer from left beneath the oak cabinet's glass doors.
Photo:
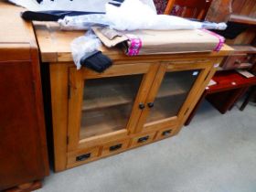
M113 154L118 154L125 150L129 145L129 140L119 140L119 141L114 141L108 144L104 144L102 147L102 152L101 155L113 155Z

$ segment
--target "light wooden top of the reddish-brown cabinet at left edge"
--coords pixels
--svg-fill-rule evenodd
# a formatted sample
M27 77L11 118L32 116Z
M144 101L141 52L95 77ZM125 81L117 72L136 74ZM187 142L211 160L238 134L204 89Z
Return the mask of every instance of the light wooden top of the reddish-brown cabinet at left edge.
M37 41L31 23L20 17L25 9L0 1L0 10L0 61L31 60Z

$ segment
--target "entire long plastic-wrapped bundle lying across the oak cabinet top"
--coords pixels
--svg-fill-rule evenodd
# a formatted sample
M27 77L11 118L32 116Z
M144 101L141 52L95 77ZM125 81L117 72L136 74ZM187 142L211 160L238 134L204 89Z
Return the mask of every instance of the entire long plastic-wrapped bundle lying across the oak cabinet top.
M225 23L197 22L178 16L157 15L151 6L140 0L125 0L122 5L106 4L106 15L66 16L59 20L62 29L75 30L88 27L111 27L120 31L138 29L226 29Z

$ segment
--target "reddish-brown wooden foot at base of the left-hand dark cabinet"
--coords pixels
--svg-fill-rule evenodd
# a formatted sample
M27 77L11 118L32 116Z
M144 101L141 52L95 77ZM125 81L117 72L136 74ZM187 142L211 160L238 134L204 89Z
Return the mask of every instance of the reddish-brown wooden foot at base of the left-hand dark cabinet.
M41 181L34 181L31 183L26 183L19 185L17 187L6 189L5 192L30 192L37 190L38 188L42 187Z

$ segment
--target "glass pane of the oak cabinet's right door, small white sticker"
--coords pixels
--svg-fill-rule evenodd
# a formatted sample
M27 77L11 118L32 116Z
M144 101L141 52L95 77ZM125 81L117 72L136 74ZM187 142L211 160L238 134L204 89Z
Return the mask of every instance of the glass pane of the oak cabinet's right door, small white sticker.
M177 116L200 70L166 72L146 123Z

